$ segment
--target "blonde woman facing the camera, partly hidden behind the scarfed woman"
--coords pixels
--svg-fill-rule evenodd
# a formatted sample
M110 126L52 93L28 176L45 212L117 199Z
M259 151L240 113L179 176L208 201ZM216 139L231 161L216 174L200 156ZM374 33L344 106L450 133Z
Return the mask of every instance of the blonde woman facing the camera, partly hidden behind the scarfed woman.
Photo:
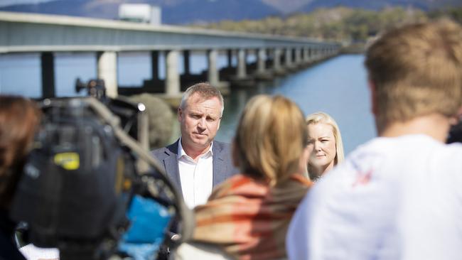
M306 117L308 127L308 174L317 180L344 159L342 136L335 120L328 114L316 112Z

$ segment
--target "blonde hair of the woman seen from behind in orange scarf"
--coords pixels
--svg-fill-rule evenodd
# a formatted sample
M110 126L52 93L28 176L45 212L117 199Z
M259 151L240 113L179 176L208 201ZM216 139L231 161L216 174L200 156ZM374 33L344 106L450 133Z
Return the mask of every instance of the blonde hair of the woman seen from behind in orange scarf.
M299 170L308 136L299 107L280 95L258 95L245 106L233 142L243 174L276 185Z

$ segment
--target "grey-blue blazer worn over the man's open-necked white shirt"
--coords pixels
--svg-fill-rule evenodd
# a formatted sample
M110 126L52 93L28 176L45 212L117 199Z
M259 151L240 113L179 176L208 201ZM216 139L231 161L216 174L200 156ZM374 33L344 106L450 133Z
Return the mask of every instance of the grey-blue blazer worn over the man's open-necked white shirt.
M180 141L178 139L178 141ZM181 190L180 170L178 168L178 141L169 146L156 149L152 154L166 170L168 178L178 190ZM213 141L213 187L222 183L238 172L232 165L231 147L229 143ZM181 193L183 194L183 193Z

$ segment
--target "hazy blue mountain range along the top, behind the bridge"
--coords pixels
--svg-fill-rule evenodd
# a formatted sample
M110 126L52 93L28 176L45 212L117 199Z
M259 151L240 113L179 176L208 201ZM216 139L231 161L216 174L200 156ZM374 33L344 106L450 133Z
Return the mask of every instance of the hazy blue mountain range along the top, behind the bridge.
M371 11L392 6L424 11L462 6L460 0L55 0L40 4L4 6L0 10L116 19L119 4L122 3L161 6L162 22L168 24L254 20L336 6Z

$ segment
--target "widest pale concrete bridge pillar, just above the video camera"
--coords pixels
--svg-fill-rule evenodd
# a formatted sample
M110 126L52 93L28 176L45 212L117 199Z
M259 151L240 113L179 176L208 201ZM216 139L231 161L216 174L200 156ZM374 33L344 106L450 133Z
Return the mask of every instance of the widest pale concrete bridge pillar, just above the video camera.
M97 53L98 78L104 80L107 97L117 97L117 53L104 51Z

